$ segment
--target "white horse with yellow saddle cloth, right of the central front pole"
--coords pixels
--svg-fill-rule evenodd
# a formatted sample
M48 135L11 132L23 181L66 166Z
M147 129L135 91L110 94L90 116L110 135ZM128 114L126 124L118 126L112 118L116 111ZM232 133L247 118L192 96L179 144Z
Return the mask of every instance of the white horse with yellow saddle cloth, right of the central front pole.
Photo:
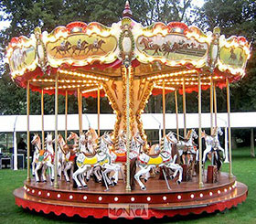
M140 135L136 135L136 139L139 140ZM141 139L142 140L142 139ZM141 141L140 140L140 141ZM133 149L137 150L131 153L132 158L134 155L137 155L138 159L138 166L141 168L135 175L134 178L140 185L142 190L145 190L146 187L144 186L143 182L140 180L140 176L145 175L148 173L152 168L154 167L163 167L175 170L174 175L171 176L173 179L177 173L179 172L178 179L176 181L177 184L181 183L182 180L182 167L180 165L176 164L176 157L178 156L178 151L173 151L172 142L169 141L168 134L164 137L164 141L162 141L161 144L161 150L159 155L156 155L155 157L146 155L145 153L142 153L138 151L139 147L133 147Z

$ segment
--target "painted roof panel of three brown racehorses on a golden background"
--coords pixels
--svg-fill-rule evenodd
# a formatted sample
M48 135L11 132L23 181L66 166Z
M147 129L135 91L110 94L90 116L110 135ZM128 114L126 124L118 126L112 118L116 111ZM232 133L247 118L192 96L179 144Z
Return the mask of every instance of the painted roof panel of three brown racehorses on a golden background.
M56 42L47 44L48 55L54 59L87 59L106 56L117 47L115 37L101 37L98 35L73 35L61 37Z

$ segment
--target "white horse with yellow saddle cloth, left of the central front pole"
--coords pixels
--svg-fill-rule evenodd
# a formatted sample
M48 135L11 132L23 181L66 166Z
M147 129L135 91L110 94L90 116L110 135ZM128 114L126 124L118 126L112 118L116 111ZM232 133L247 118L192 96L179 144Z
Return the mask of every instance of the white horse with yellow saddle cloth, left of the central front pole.
M116 184L118 181L118 167L117 165L112 164L111 156L109 154L109 145L112 144L111 135L109 133L104 133L98 140L98 148L96 151L96 155L89 157L84 153L80 153L78 155L76 164L78 166L78 170L76 170L73 174L73 179L76 182L78 187L87 187L86 183L82 179L81 175L87 171L91 166L101 165L102 168L106 170L114 171L114 183ZM105 170L105 171L106 171ZM104 171L104 172L105 172ZM105 178L103 172L103 179Z

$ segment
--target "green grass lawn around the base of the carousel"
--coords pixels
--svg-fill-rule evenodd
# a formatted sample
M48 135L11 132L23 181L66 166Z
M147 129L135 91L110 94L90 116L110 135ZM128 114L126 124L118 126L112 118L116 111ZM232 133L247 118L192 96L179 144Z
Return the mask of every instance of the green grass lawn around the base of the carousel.
M222 171L228 172L229 165L224 164ZM238 181L249 187L249 196L238 208L213 214L189 215L172 219L111 220L111 219L80 219L80 217L57 217L18 208L15 204L13 191L22 187L27 171L0 170L0 223L256 223L256 159L250 157L249 148L233 150L233 174Z

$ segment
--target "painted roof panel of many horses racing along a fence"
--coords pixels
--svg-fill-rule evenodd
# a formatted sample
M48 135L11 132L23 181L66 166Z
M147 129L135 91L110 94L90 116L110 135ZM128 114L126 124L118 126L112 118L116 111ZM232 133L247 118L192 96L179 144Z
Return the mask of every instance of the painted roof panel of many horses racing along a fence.
M140 36L137 39L137 48L146 55L170 60L202 59L208 52L208 44L178 35Z

